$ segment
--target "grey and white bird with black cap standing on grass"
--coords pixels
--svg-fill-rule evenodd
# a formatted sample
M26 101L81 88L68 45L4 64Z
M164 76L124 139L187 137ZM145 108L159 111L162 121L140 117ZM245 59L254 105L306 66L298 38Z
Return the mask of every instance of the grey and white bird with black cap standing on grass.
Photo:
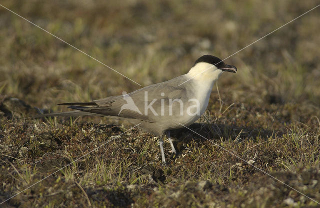
M168 138L171 153L176 154L170 130L181 128L181 124L194 123L206 110L213 84L220 75L236 71L235 66L225 64L218 57L203 55L188 73L168 81L91 102L60 103L57 105L66 105L73 110L34 117L110 116L139 124L145 132L159 138L161 160L165 165L163 138Z

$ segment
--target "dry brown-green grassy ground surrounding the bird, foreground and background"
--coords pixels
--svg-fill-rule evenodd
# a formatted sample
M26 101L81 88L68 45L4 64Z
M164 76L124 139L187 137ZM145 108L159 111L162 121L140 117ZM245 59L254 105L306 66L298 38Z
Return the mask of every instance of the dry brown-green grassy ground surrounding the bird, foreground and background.
M1 1L142 86L186 73L200 55L227 57L317 3ZM139 86L0 10L0 202L70 164L1 206L318 207L185 129L162 167L156 138L122 134L127 124L20 119ZM214 88L191 129L320 202L318 10L225 60L238 73L220 78L220 97Z

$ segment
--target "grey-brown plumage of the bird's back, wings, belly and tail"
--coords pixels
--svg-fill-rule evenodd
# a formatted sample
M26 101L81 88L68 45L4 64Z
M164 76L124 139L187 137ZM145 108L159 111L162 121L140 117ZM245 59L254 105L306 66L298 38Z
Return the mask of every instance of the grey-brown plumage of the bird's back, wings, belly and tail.
M110 96L99 100L93 100L92 102L86 103L60 103L58 105L68 105L68 108L74 109L75 111L69 112L59 112L59 113L47 113L35 116L46 117L46 116L116 116L128 119L133 124L137 124L141 122L141 127L154 134L155 136L160 136L165 133L166 130L179 128L180 123L187 122L190 118L186 118L185 115L180 115L180 111L172 110L172 116L168 120L168 111L164 111L164 115L161 116L158 113L158 116L154 115L150 110L148 111L148 115L144 115L144 96L145 92L148 93L147 101L150 103L153 99L157 99L152 105L155 112L161 111L161 99L164 100L164 105L168 105L169 99L181 99L183 103L187 103L188 97L193 96L193 88L191 85L182 85L178 86L178 84L182 83L186 80L184 75L171 79L169 81L149 85L128 93L128 95L132 98L135 105L139 108L143 114L139 114L135 111L131 111L129 109L124 109L118 115L120 108L122 105L126 104L125 100L121 95L119 96ZM192 80L190 80L192 83ZM164 93L164 96L161 96L160 93ZM175 106L173 104L173 108ZM185 108L187 106L184 106ZM141 109L140 109L141 108ZM184 122L183 122L184 121Z

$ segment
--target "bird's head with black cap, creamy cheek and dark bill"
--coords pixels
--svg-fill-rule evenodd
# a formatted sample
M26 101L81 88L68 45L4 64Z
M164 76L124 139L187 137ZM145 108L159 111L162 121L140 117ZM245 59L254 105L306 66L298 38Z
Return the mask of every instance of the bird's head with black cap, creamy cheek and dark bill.
M216 80L225 71L235 73L236 67L225 64L218 57L203 55L194 62L188 74L198 79Z

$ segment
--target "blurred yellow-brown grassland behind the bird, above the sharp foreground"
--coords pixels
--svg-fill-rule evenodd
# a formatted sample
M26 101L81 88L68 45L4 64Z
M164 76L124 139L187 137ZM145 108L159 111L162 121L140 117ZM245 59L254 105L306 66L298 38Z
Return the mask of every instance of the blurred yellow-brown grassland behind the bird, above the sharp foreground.
M203 54L224 59L317 3L1 1L142 86L187 73ZM300 107L303 103L302 112L317 115L319 19L316 8L225 60L238 68L236 74L223 74L218 82L226 106L235 103L260 109L264 104L298 103ZM0 37L0 94L31 106L58 110L57 103L90 101L140 88L3 7ZM216 93L212 96L214 105L218 98Z

